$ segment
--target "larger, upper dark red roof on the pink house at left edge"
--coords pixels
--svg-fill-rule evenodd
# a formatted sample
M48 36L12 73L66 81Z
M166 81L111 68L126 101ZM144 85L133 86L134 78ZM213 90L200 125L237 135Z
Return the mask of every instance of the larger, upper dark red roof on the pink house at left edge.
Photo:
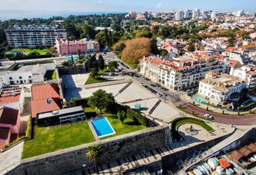
M19 110L1 107L0 108L0 123L7 125L16 125L19 116Z

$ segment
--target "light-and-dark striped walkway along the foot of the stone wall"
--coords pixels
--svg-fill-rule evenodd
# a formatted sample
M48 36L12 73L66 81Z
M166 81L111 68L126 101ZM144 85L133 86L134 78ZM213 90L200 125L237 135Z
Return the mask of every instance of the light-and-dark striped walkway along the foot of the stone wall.
M160 147L154 149L152 151L145 151L143 153L138 153L136 155L123 157L115 162L106 162L98 166L98 173L99 174L119 174L124 170L130 170L133 168L137 168L148 164L150 162L154 162L157 160L161 160L161 157L164 155L168 155L173 153L173 150L169 146ZM95 168L89 168L83 170L82 172L77 172L75 174L96 174Z

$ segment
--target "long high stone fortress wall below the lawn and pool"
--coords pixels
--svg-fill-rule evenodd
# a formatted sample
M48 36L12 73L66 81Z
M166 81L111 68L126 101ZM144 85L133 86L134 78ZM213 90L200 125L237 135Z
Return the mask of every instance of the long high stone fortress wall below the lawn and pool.
M98 163L113 162L121 157L135 155L141 151L150 151L169 143L169 128L158 126L151 129L129 133L118 137L96 141L53 153L46 153L36 157L22 160L20 165L11 170L8 174L65 174L81 170L83 165L86 168L92 167L93 162L86 159L87 148L92 144L99 144L101 157ZM166 140L166 138L168 138Z

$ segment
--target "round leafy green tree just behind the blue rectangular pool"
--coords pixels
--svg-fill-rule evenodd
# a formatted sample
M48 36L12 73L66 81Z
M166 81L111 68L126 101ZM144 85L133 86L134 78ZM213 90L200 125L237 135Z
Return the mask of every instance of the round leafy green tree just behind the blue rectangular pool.
M97 90L92 93L92 96L88 99L88 104L92 108L98 108L100 110L100 114L104 108L108 108L109 106L115 103L115 98L112 93L106 93L104 90Z

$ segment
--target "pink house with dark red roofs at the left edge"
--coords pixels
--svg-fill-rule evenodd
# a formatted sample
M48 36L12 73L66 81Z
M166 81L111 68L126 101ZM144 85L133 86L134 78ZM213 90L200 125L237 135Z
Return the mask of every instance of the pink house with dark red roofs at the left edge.
M20 125L19 110L5 106L0 108L0 148L19 136Z

